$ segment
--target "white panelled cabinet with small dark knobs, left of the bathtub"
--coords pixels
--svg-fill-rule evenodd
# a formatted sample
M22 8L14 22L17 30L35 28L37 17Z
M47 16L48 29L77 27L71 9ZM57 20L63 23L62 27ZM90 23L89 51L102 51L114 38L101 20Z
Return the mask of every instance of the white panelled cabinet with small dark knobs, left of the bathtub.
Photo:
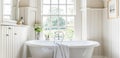
M0 26L0 58L21 58L27 26Z

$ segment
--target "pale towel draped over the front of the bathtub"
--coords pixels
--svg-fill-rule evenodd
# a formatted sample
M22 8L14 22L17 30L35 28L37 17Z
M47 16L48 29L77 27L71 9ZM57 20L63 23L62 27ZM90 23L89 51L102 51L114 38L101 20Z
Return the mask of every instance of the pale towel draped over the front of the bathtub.
M54 58L69 58L69 47L56 43L54 47Z

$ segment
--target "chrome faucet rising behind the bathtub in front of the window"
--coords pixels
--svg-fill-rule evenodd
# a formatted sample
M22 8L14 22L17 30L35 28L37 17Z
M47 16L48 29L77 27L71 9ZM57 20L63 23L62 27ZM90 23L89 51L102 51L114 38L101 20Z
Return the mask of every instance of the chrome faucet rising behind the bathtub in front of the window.
M55 33L55 36L54 36L54 42L57 43L57 42L63 42L64 40L64 33L62 31L56 31Z

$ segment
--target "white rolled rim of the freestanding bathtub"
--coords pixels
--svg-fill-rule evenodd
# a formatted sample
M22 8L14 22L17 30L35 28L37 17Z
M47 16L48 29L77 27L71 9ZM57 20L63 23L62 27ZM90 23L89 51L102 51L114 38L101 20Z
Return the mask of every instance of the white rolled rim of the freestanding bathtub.
M52 45L41 45L41 44L36 44L36 43L33 43L35 41L40 41L40 42L50 42L52 43ZM93 42L94 44L92 45L82 45L82 46L70 46L70 45L66 45L68 47L71 47L71 48L86 48L86 47L89 47L89 48L94 48L94 47L98 47L100 46L100 43L97 42L97 41L90 41L90 40L81 40L81 41L63 41L63 42L83 42L83 41L86 41L86 42ZM31 47L54 47L56 46L54 41L41 41L41 40L30 40L30 41L27 41L25 42L25 45L27 46L31 46ZM63 44L65 45L65 44Z

